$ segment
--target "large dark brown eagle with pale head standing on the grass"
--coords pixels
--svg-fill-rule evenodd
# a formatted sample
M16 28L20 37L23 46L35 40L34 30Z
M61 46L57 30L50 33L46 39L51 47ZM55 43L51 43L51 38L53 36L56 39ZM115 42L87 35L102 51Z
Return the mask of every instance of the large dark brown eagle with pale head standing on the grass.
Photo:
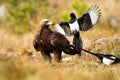
M44 59L51 62L50 53L54 54L54 59L60 62L62 59L61 52L74 55L77 50L70 45L67 38L59 32L53 32L49 26L52 24L48 19L43 19L39 24L39 32L33 40L33 46L36 51L41 51Z

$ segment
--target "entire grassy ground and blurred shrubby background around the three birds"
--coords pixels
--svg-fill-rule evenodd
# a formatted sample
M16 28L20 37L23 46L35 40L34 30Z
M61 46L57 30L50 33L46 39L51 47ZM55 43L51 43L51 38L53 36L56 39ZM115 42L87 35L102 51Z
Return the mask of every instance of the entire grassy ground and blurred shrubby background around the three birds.
M33 48L43 18L69 21L69 13L80 17L95 4L102 14L92 29L80 32L83 47L120 57L120 0L0 0L0 80L119 80L119 65L104 67L87 53L78 61L46 65Z

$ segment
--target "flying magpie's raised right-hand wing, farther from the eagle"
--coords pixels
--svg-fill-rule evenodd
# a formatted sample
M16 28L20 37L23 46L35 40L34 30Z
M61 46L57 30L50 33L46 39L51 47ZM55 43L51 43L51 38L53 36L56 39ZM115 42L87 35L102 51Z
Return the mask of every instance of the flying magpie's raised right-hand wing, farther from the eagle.
M101 16L101 10L97 5L92 6L86 14L78 18L78 24L80 25L80 31L88 31L92 28Z

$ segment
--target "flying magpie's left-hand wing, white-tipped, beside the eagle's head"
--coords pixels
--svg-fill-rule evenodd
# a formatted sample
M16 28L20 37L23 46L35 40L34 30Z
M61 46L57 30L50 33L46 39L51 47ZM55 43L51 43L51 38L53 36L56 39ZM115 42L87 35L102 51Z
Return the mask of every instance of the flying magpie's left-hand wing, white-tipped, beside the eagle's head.
M71 30L68 22L60 22L55 25L55 30L63 35L70 35Z

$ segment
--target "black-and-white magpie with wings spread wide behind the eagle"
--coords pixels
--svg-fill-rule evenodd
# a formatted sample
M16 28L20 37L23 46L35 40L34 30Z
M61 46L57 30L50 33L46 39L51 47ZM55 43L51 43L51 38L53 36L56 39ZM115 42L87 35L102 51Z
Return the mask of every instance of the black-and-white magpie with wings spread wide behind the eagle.
M60 22L55 25L57 32L63 35L74 35L73 45L81 54L81 49L83 47L83 42L79 31L88 31L91 29L99 20L101 15L101 10L97 5L92 6L87 13L83 14L81 17L76 18L75 14L70 13L69 22Z

